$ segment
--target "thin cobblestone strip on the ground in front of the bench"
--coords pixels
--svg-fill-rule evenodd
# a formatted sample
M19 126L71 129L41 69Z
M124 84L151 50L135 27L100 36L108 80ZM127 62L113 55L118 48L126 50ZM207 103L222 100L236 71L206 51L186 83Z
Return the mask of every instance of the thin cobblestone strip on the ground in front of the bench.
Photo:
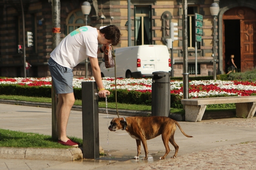
M220 122L203 122L203 123L219 124L219 125L225 125L225 126L256 128L256 119L242 119L242 120L231 120L231 121L220 121Z

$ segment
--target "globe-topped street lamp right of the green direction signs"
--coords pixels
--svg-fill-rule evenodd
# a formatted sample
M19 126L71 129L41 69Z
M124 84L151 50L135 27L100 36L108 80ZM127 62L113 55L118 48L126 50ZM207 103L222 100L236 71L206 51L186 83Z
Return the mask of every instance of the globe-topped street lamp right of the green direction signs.
M216 80L216 17L219 14L220 7L217 3L212 3L210 5L210 14L214 17L214 42L213 42L213 50L214 50L214 80Z

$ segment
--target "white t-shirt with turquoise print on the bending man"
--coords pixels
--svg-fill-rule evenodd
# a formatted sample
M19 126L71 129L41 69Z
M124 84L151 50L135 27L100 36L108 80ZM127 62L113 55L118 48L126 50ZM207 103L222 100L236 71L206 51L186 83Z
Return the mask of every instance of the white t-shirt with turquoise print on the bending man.
M84 26L65 37L51 52L51 58L59 65L73 69L88 56L97 58L97 28Z

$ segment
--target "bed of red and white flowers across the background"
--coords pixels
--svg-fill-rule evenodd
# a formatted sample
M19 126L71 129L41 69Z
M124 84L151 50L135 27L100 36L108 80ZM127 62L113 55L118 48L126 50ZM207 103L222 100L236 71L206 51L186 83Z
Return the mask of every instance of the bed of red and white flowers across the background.
M94 78L73 78L74 88L81 88L81 82L95 81ZM117 78L117 89L128 91L151 92L151 78ZM102 78L106 89L115 89L114 78ZM0 78L1 84L16 84L28 86L51 86L51 78ZM183 95L182 81L171 81L171 94ZM189 81L189 98L223 96L223 95L254 95L256 93L256 82L238 81Z

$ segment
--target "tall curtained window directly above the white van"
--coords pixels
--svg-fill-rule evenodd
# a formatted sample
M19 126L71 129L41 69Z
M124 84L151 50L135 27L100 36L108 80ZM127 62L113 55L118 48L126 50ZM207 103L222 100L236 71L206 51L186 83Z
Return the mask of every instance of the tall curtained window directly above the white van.
M151 44L150 6L134 7L135 45Z

